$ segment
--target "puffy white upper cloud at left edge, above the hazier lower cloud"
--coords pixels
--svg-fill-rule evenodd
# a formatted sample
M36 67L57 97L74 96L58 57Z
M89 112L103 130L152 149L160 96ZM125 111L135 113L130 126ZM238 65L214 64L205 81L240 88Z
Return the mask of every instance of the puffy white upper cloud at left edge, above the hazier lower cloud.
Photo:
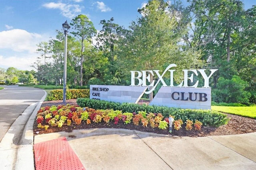
M23 29L12 29L0 32L0 49L12 51L28 51L34 53L36 44L41 42L44 37L37 33L29 33ZM48 37L47 37L48 38Z

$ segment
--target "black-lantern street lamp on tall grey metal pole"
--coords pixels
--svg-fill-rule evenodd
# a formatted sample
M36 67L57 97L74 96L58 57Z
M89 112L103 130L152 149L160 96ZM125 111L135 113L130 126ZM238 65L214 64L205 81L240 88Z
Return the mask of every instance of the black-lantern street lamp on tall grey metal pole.
M68 37L68 29L70 26L68 22L62 23L62 27L65 34L65 45L64 45L64 74L63 74L63 102L66 103L66 86L67 86L67 37Z

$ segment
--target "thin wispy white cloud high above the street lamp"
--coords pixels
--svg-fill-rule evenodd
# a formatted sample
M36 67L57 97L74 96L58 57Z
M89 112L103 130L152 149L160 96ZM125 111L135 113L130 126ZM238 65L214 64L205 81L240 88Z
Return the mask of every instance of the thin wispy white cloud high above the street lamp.
M79 0L76 0L79 1ZM48 9L59 9L61 11L61 14L67 18L74 18L78 14L81 13L83 6L76 5L76 4L64 4L61 2L55 3L55 2L50 2L43 4L43 7L48 8Z

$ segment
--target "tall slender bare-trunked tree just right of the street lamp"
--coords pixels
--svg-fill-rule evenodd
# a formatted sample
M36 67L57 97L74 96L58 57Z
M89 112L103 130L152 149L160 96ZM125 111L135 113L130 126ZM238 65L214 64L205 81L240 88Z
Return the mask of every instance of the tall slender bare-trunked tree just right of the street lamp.
M80 86L83 85L83 62L84 62L84 43L85 41L92 42L92 36L95 35L96 29L94 28L94 25L92 21L88 19L86 15L78 15L76 18L72 19L72 22L70 23L72 25L73 31L72 33L75 37L77 37L80 40L81 43L81 57L80 57Z

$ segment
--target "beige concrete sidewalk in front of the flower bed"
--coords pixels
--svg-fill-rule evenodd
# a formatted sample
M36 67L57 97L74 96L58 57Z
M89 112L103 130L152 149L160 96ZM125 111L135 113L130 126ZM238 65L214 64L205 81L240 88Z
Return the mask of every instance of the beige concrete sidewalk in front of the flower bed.
M87 170L256 169L256 133L170 137L126 129L36 135L34 143L66 137Z

